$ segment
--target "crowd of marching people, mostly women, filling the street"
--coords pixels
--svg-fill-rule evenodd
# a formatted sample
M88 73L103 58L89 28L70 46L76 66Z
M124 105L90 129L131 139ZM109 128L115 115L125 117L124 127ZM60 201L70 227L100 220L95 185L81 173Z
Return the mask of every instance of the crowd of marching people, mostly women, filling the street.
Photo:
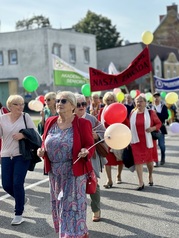
M131 130L132 149L135 170L138 177L137 190L145 189L143 165L148 169L149 186L154 186L153 168L159 166L157 145L161 151L160 165L164 165L166 120L168 108L160 93L153 94L153 102L148 103L144 94L133 99L126 94L123 103L127 109L124 123ZM44 96L44 108L36 128L30 115L25 113L24 99L20 95L11 95L6 108L0 115L1 174L3 189L15 200L15 216L11 225L20 225L23 221L24 204L27 202L24 182L30 160L20 150L20 141L25 140L23 130L33 129L41 136L42 142L36 155L44 160L44 174L49 176L50 202L54 228L59 237L89 237L86 224L88 174L93 170L100 179L105 171L107 181L105 189L113 187L112 166L117 166L115 183L122 183L124 167L121 157L117 157L113 148L108 147L108 154L102 157L94 144L104 139L105 130L110 126L105 121L105 111L117 102L112 91L103 96L93 93L85 97L70 91L49 92ZM157 140L151 132L161 131ZM103 168L105 168L103 170ZM21 173L19 173L21 171ZM90 194L92 221L101 220L101 195L97 183L96 192Z

